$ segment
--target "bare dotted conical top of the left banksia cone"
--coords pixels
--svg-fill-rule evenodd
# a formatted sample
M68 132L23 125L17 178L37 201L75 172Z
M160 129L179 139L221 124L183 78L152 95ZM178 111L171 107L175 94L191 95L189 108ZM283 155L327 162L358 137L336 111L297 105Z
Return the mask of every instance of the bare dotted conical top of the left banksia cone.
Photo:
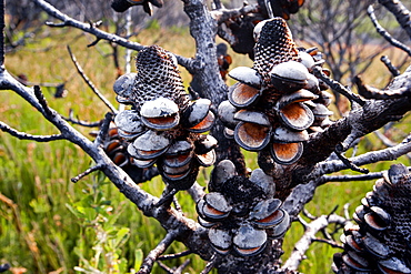
M136 67L134 100L138 109L146 101L160 97L174 101L180 110L187 106L187 94L172 53L159 45L150 45L139 52Z

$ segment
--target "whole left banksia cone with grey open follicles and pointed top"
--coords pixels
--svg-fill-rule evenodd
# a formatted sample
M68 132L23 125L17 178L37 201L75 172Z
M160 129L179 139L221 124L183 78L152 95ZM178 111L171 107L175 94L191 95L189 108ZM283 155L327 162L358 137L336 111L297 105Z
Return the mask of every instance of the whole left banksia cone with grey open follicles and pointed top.
M137 69L114 83L117 100L131 105L114 118L118 134L129 142L134 165L157 163L166 183L187 190L199 166L215 161L215 139L200 134L213 124L211 101L188 99L176 57L158 45L139 52Z

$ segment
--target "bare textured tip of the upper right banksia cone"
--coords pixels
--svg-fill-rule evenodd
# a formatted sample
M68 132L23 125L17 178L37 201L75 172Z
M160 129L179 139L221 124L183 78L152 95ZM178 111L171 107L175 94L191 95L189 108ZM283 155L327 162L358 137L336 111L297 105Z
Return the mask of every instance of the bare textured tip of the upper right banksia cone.
M254 53L253 69L263 77L264 82L270 82L268 73L275 64L299 60L297 45L284 19L274 18L265 22L255 43Z

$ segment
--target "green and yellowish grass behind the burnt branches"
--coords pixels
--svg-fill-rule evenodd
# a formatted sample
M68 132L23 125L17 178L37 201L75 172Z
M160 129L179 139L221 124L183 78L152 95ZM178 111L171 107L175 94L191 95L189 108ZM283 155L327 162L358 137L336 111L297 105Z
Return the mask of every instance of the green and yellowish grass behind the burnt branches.
M44 94L49 104L68 115L72 109L81 120L97 121L108 111L102 102L90 91L77 74L66 50L70 44L84 72L100 91L116 104L112 84L117 70L109 55L111 48L100 42L94 48L87 44L93 41L88 34L72 29L48 29L50 35L36 40L18 52L7 55L6 65L12 74L27 74L29 81L67 82L69 91L64 99L53 99L53 90L46 89ZM193 41L187 29L142 31L138 39L142 44L157 43L172 52L186 57L194 55ZM62 42L67 41L67 42ZM120 50L120 58L123 55ZM231 52L231 55L234 54ZM244 55L235 55L232 68L251 65ZM182 70L186 83L190 75ZM229 82L230 84L232 82ZM42 116L10 91L0 91L0 120L31 134L53 134L57 131ZM392 134L402 135L408 128L402 124ZM74 125L88 135L90 129ZM397 140L401 141L401 140ZM375 150L381 144L374 136L368 136L360 148L360 153ZM255 169L255 153L245 153L247 164ZM402 159L401 161L407 161ZM163 229L152 219L143 216L118 190L101 180L99 175L88 176L77 184L70 179L91 165L91 160L76 145L66 141L36 143L20 141L0 132L0 263L9 262L14 267L26 267L28 273L74 273L73 267L81 265L80 252L90 260L96 254L92 247L97 245L93 227L111 231L116 235L121 229L128 227L128 241L121 243L118 255L128 260L128 267L141 260L139 250L146 255L164 235ZM388 164L372 165L371 171L387 169ZM200 183L204 185L207 169L201 174ZM331 183L318 189L308 210L314 215L328 214L339 205L342 213L345 203L352 203L351 210L359 204L361 196L371 190L373 182ZM144 183L142 187L160 195L163 183L159 179ZM179 201L189 217L196 217L194 204L186 199L184 192L178 194ZM87 216L73 214L69 207L80 206L90 197L93 203L87 211ZM99 204L100 203L100 204ZM68 206L69 205L69 206ZM81 206L80 206L81 207ZM101 211L102 210L102 211ZM79 217L80 216L80 217ZM104 219L106 216L106 219ZM102 220L102 221L101 221ZM107 220L107 221L104 221ZM93 224L94 226L92 226ZM99 226L101 225L101 226ZM290 254L293 243L298 241L302 230L294 224L285 237L284 251ZM176 243L168 253L183 251L184 246ZM136 252L137 251L137 252ZM315 243L308 252L300 271L304 273L331 273L331 257L335 250L321 243ZM197 255L189 256L189 273L199 273L204 267ZM181 264L184 258L167 262L170 266ZM158 265L153 273L163 273Z

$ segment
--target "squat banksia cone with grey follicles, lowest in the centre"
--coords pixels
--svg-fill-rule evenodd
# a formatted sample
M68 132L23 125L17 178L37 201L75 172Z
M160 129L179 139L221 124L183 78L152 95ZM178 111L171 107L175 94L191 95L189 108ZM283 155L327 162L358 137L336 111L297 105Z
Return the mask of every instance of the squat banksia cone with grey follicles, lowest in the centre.
M210 192L197 204L199 223L217 253L253 256L270 239L281 237L290 217L273 199L275 184L261 169L250 179L237 175L234 164L221 161L212 172Z

